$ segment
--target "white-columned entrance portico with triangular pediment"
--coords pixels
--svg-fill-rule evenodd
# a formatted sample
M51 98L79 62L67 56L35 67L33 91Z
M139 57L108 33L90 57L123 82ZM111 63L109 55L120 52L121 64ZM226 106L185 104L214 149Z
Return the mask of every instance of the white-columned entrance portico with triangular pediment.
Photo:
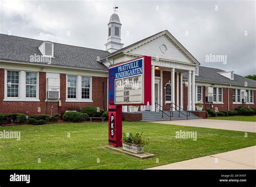
M195 110L195 70L200 64L167 30L119 49L107 56L106 66L129 61L139 56L151 56L152 105L140 106L140 111ZM183 74L188 80L183 80ZM185 92L185 93L184 93ZM157 105L157 106L156 106ZM123 112L130 112L123 106Z

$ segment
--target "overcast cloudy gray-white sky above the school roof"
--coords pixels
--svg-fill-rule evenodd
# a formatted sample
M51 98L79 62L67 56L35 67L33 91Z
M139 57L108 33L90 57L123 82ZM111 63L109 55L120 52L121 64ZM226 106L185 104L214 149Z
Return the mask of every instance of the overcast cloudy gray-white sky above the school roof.
M0 33L105 49L115 4L124 47L167 29L201 65L256 74L255 1L0 0Z

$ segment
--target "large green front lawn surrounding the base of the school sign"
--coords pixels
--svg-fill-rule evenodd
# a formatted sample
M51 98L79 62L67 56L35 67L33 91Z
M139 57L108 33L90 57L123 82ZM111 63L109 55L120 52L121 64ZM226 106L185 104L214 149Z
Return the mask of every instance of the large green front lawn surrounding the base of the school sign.
M150 139L145 151L156 157L139 160L105 148L107 123L0 127L3 130L21 131L21 140L0 139L0 169L145 169L254 146L256 139L256 133L245 138L237 131L124 122L123 132L143 131ZM196 131L197 141L176 139L180 130Z

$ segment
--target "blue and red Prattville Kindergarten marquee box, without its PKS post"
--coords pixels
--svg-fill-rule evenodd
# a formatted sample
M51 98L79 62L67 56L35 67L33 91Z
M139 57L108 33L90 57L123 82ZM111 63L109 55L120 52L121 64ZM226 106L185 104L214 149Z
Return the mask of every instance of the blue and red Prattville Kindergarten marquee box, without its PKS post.
M151 105L151 57L109 68L109 104Z

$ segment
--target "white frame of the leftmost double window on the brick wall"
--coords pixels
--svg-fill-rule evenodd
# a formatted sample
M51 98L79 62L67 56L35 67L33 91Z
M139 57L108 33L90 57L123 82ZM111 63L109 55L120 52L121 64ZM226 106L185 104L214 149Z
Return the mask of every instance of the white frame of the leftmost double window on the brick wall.
M7 97L7 71L19 71L18 97ZM26 97L26 72L37 73L36 97ZM5 69L4 71L4 101L39 102L39 72L17 69Z

